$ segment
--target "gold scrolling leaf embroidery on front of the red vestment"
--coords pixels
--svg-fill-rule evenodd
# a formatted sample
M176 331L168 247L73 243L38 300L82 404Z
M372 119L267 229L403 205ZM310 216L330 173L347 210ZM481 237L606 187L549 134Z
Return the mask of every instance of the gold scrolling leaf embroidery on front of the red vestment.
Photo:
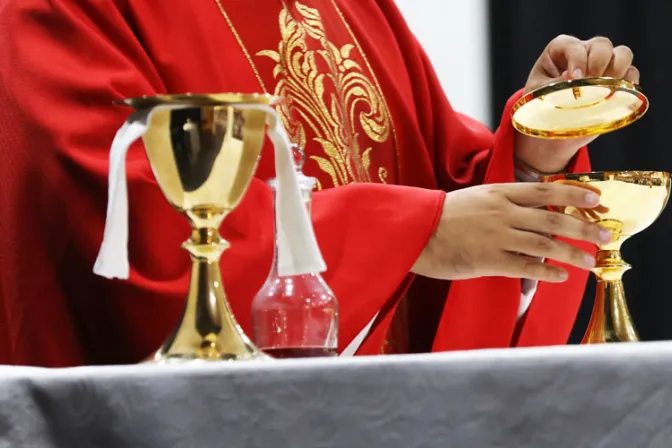
M278 107L292 139L306 147L306 130L324 151L325 157L310 156L331 178L334 186L351 182L371 182L373 146L360 147L360 132L373 143L390 137L391 119L375 84L353 58L354 44L337 47L327 39L319 11L295 3L300 15L294 19L283 8L279 26L282 39L278 50L263 50L258 56L276 65L275 95L286 98ZM317 50L310 48L317 43ZM327 67L321 71L319 64ZM331 89L329 88L331 87ZM292 120L292 117L301 120ZM359 129L358 129L359 128Z

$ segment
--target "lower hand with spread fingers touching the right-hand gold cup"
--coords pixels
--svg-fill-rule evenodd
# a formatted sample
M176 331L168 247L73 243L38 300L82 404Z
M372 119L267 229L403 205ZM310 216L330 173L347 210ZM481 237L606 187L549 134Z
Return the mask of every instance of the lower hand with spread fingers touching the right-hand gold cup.
M563 282L567 271L539 259L590 269L592 255L546 235L603 244L611 232L543 207L594 209L599 195L561 183L481 185L446 194L440 223L412 272L459 280L483 276ZM542 207L542 208L540 208Z

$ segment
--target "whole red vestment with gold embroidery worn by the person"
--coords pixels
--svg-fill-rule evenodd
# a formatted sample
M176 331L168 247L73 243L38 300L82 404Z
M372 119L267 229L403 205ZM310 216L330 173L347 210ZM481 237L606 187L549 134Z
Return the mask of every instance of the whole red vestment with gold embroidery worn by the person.
M110 143L129 114L111 103L230 91L290 100L282 116L320 182L313 221L341 349L383 308L359 352L380 353L404 294L411 330L438 327L437 351L566 342L585 271L540 285L516 337L518 280L409 274L443 191L514 181L514 131L511 102L494 135L451 108L392 0L2 0L0 363L130 363L158 348L184 304L189 227L138 145L127 161L130 279L92 273ZM272 156L267 143L221 229L224 284L248 331L273 250ZM585 150L573 169L589 169Z

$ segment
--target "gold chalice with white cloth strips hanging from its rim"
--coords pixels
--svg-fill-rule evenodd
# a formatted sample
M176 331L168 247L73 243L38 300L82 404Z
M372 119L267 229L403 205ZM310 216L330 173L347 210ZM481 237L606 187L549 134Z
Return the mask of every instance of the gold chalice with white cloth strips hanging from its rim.
M149 361L266 358L229 307L219 269L219 258L229 243L218 229L245 194L263 146L266 113L249 106L275 101L271 96L241 94L124 101L138 111L152 111L143 142L154 177L192 228L182 245L192 260L184 312Z

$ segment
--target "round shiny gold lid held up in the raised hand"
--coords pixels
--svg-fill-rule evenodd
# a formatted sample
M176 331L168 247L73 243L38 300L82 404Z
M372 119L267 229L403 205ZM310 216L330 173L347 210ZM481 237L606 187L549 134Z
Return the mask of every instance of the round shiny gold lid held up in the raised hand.
M615 78L560 81L524 95L513 106L513 126L547 139L606 134L641 118L649 101L638 85Z

